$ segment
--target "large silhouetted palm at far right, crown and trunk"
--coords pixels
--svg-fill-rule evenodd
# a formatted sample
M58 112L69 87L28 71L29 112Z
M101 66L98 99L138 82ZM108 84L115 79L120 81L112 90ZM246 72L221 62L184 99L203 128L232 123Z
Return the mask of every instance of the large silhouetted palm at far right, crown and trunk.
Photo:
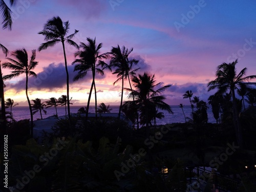
M251 84L256 84L254 82L248 82L248 80L255 79L256 75L245 76L247 68L242 69L237 75L236 65L238 60L232 63L222 63L218 66L215 80L208 83L208 91L218 89L218 93L223 94L227 90L230 90L232 96L233 104L233 122L235 127L235 132L237 136L237 141L239 146L243 146L243 139L241 133L241 125L239 121L239 114L236 103L235 90L241 88L242 84L249 86Z

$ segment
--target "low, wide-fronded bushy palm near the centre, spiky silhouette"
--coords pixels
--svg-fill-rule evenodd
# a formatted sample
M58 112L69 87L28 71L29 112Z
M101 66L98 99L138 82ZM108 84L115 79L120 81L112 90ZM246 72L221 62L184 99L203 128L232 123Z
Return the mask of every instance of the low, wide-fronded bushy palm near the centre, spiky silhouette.
M146 124L146 136L148 137L148 124L152 118L154 118L154 116L150 117L150 114L155 113L157 109L165 110L173 114L170 106L163 101L165 97L159 95L169 88L170 85L154 90L159 86L160 82L155 84L155 75L148 73L144 73L143 75L139 74L138 77L133 76L132 82L135 90L128 88L125 88L125 90L130 91L129 98L135 98L135 101L130 102L138 106L140 119L145 119L145 121L141 121L141 124Z

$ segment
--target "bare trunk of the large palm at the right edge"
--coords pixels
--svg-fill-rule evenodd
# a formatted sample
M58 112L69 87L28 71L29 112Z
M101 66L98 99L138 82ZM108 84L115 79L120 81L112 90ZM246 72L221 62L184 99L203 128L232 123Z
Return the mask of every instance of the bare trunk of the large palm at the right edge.
M236 96L234 93L234 89L231 89L232 92L232 102L233 102L233 121L234 121L234 128L237 136L238 145L242 148L243 147L243 138L240 126L240 120L238 115L237 103L236 103Z

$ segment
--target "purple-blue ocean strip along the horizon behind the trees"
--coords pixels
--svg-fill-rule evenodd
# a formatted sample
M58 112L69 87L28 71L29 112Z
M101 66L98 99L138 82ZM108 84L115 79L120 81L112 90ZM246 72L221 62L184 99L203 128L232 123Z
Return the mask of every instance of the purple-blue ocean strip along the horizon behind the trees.
M73 106L70 105L70 112L71 113L77 113L77 110L80 109L82 106ZM169 114L166 111L162 111L164 113L164 119L157 119L157 124L166 124L166 123L184 123L185 122L185 118L184 115L182 113L181 108L178 105L170 105L170 107L172 108L172 111L174 112L174 114ZM110 106L110 109L112 109L112 113L118 113L119 110L119 106L113 105ZM10 108L6 109L6 111L9 111ZM55 108L51 107L51 108L47 108L45 109L47 111L47 114L45 115L44 113L42 113L42 118L47 118L49 116L55 115ZM94 106L90 106L90 110L89 112L94 113ZM190 105L184 105L184 113L186 117L191 118L191 108ZM57 106L57 112L58 112L58 116L63 116L65 115L65 106ZM161 112L161 110L159 110L159 112ZM215 123L216 120L211 112L211 106L209 106L209 109L207 111L208 113L208 122L209 123ZM13 114L13 118L18 121L18 120L22 120L22 119L30 119L30 112L29 112L29 107L28 106L14 106L12 108L12 114ZM40 113L39 111L34 114L34 120L36 120L37 118L40 118Z

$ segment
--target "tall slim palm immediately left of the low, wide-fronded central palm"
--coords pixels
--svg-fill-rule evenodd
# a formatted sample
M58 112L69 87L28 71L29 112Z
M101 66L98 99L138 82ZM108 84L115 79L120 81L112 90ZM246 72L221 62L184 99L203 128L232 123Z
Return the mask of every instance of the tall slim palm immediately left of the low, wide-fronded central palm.
M132 91L132 85L130 81L130 75L135 75L135 72L139 69L132 70L133 65L137 65L139 60L136 59L129 59L130 53L133 51L133 48L126 49L124 46L122 49L120 49L119 45L117 47L112 47L111 50L111 59L110 59L110 66L112 68L115 68L115 72L113 74L117 74L118 79L113 83L114 85L119 81L122 80L122 91L121 91L121 103L120 103L120 108L119 108L119 113L118 113L118 118L120 119L120 114L121 114L121 109L122 109L122 102L123 102L123 83L124 79L129 80L130 84L130 90L131 93L133 94ZM134 96L133 100L134 100Z

